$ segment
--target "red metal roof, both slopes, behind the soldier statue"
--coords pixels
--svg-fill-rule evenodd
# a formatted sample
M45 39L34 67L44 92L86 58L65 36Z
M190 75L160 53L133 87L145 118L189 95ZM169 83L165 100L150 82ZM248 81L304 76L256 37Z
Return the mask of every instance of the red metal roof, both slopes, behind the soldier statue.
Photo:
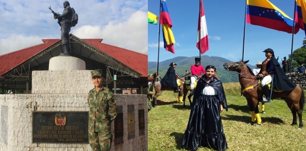
M147 76L148 56L146 54L100 43L103 39L82 40L96 47L97 49L109 54L124 65L129 66L135 71L141 73L142 76ZM23 62L27 61L29 58L33 57L35 54L60 41L60 39L43 39L42 41L44 42L43 44L0 55L0 75L3 75L11 69L19 66Z

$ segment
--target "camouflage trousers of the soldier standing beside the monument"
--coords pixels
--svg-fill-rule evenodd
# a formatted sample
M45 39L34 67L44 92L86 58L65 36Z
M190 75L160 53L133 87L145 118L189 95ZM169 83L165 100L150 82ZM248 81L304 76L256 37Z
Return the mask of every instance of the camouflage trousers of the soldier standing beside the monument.
M93 151L108 151L111 150L112 137L104 139L104 132L89 132L89 144Z

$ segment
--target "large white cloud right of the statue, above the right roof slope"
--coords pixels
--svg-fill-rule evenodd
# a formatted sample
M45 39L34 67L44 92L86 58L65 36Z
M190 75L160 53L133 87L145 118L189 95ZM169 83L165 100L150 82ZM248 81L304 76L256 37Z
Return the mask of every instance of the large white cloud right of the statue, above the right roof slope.
M105 26L84 25L71 33L81 39L103 38L103 43L147 54L147 13L137 11L124 22L113 22ZM146 31L146 32L144 32Z

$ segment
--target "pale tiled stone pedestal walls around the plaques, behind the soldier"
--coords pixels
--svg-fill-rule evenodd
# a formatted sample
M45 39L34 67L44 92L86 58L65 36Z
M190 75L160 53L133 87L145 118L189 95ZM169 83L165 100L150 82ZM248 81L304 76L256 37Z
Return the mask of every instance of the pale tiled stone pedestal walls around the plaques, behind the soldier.
M87 97L93 88L90 71L33 71L32 82L32 94L0 95L0 150L91 150L89 144L32 142L34 111L89 111ZM111 150L147 150L146 95L115 96L123 114L123 137L114 143L118 139L112 122ZM139 110L144 110L144 131L139 131ZM133 137L127 121L131 111L135 119Z

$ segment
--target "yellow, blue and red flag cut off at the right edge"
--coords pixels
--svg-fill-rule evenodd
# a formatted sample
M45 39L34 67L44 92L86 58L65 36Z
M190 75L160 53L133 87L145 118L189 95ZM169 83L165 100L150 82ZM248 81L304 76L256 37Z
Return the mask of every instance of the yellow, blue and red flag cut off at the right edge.
M305 0L297 0L296 1L295 14L297 14L297 24L296 28L301 28L305 31L306 28L306 2ZM306 35L306 31L305 31Z

